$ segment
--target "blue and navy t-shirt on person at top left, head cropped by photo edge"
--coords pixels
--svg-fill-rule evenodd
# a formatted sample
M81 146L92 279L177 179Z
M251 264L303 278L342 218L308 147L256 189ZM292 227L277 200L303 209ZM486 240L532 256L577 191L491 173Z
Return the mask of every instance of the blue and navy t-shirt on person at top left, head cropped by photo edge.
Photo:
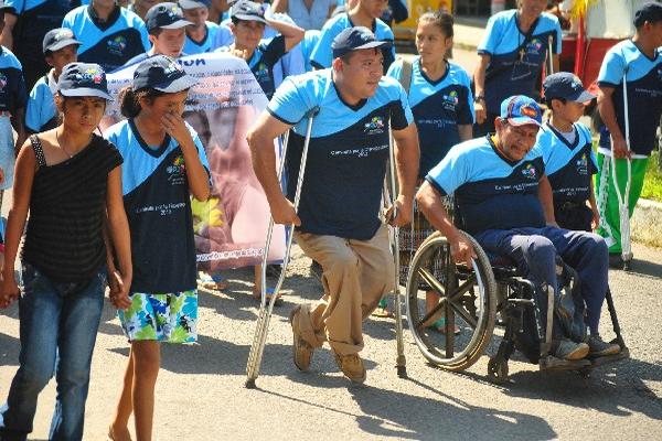
M82 43L78 61L97 63L106 72L124 66L151 47L145 23L125 8L117 7L108 21L100 22L92 6L82 6L65 15L62 26L71 29Z

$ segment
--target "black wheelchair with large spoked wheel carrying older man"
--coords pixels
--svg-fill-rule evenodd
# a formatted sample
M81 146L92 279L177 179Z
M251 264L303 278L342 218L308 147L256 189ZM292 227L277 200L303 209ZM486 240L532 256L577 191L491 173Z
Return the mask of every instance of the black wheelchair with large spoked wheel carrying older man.
M445 201L445 206L451 217L456 213L453 223L457 226L457 206L452 201ZM553 356L551 335L555 314L547 314L549 320L543 321L534 295L536 287L512 261L490 259L473 237L461 229L460 234L476 251L471 267L453 262L450 244L440 232L428 236L409 262L405 294L407 322L416 345L430 364L453 372L472 366L490 345L498 314L503 338L488 363L488 378L495 384L508 381L509 359L515 349L531 363L538 364L541 370L576 370L583 375L606 363L629 357L610 292L606 300L616 334L613 343L618 343L620 353L579 361ZM426 290L439 297L436 306L429 311ZM553 290L544 298L545 310L553 311ZM540 294L537 299L541 301ZM428 327L439 316L445 319L444 332ZM460 329L458 335L456 325Z

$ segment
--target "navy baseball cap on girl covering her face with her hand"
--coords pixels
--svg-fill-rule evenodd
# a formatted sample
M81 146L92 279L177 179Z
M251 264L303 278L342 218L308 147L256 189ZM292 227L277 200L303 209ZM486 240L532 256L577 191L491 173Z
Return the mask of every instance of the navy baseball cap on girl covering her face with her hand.
M182 66L166 55L154 55L138 65L134 72L134 90L152 88L167 94L177 94L197 84Z

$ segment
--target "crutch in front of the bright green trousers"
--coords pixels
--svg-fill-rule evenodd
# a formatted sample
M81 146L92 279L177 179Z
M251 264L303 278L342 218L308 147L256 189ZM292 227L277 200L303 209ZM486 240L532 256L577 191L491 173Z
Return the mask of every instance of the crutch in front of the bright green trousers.
M623 259L623 269L627 271L630 269L630 262L632 260L632 246L630 244L630 183L632 182L632 161L630 160L630 117L628 111L628 67L623 73L623 122L626 129L626 148L628 149L628 155L624 158L628 181L626 183L624 194L621 194L620 187L618 186L618 176L616 174L616 157L611 152L611 179L613 180L613 186L616 190L616 196L618 197L618 214L621 230L621 258Z

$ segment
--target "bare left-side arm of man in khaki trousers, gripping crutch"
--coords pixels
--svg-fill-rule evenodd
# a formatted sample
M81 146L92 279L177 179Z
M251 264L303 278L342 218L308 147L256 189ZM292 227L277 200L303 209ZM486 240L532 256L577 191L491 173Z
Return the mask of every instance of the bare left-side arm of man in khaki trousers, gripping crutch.
M248 130L246 140L250 147L253 170L267 196L271 217L276 224L301 225L293 204L285 197L276 172L276 152L274 139L291 126L274 118L269 112L263 111L257 122Z

